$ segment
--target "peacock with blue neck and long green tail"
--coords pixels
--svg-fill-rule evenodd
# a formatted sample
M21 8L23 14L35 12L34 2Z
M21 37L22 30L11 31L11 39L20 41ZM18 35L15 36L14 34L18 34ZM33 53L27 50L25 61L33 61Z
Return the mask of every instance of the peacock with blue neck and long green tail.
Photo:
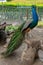
M11 40L7 46L7 49L4 52L5 57L8 57L9 55L11 55L13 53L13 51L18 49L20 47L20 45L22 44L22 41L25 38L26 32L29 32L31 29L33 29L38 24L38 15L36 12L36 6L32 6L32 18L33 18L33 21L25 29L23 29L23 27L24 27L26 21L24 21L24 23L22 23L18 27L18 29L15 31L15 33L13 33Z

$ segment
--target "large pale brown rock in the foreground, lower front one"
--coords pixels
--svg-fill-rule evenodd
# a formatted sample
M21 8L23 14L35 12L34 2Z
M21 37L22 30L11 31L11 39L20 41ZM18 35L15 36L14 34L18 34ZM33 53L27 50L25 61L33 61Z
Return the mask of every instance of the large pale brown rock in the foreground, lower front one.
M21 56L22 65L32 65L36 54L35 48L27 48L23 51Z

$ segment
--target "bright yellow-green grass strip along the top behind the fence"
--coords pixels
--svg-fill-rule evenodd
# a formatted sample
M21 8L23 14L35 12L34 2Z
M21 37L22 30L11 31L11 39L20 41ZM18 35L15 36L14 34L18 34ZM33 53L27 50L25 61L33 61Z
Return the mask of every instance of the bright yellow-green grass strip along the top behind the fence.
M9 1L9 2L8 2ZM23 2L11 2L10 0L8 0L7 2L0 2L0 5L14 5L14 6L32 6L33 4L32 4L32 2L31 3L28 3L28 2L25 2L25 3L23 3ZM43 7L43 4L35 4L34 3L34 5L36 5L36 6L40 6L40 7Z

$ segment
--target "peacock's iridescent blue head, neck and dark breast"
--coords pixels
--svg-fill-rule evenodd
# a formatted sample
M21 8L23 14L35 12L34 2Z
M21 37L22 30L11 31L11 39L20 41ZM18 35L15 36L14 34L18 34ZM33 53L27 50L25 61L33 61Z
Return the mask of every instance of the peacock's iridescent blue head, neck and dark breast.
M27 26L27 28L24 29L24 31L26 31L28 28L33 29L38 23L38 15L35 6L32 6L32 19L33 21Z

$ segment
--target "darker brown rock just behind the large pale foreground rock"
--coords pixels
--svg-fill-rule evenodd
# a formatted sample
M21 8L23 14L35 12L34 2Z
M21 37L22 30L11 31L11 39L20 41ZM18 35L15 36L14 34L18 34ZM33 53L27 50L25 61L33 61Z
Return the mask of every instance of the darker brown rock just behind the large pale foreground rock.
M36 48L37 50L41 48L41 41L40 40L27 40L25 39L25 43L28 45L28 47Z

